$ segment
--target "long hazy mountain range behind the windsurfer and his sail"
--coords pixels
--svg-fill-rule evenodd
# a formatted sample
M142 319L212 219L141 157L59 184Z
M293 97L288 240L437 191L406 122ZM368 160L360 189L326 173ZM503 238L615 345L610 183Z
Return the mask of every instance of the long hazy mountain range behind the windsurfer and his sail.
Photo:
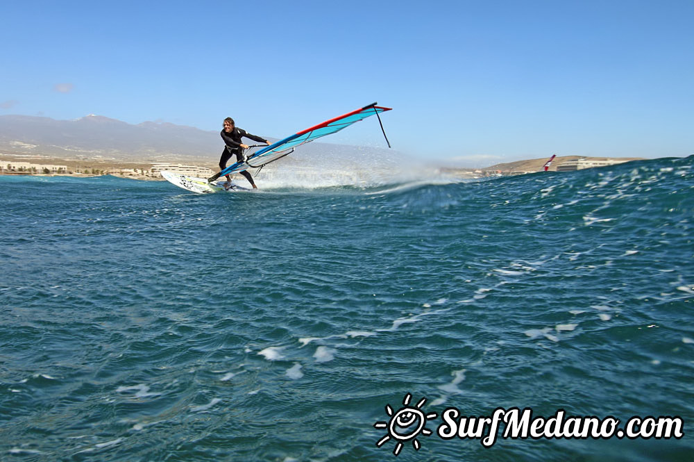
M219 131L168 122L133 125L93 114L75 120L0 115L0 153L6 154L216 165L223 147ZM349 167L366 162L373 165L374 160L388 167L403 159L390 149L312 142L282 163L321 167L327 162L330 167Z

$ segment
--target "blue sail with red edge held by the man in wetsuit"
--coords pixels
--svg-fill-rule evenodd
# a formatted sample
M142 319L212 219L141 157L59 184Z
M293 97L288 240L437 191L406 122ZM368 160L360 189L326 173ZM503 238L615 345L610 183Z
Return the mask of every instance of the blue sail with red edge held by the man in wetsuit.
M346 129L348 126L359 122L360 120L366 119L366 117L371 117L376 115L380 122L380 113L383 113L391 108L384 108L382 106L376 106L378 103L369 104L369 106L364 106L361 109L353 110L350 113L340 115L334 119L326 120L321 124L310 127L309 129L302 130L294 135L289 135L284 140L279 140L272 145L263 147L253 154L248 156L246 162L237 162L229 165L221 172L215 174L210 178L210 181L214 181L223 175L228 175L236 172L243 172L248 170L248 168L258 168L264 167L275 160L278 160L284 156L291 154L296 147L305 145L307 142L312 142L317 138L321 138L326 135L332 135L332 133L337 133L342 129ZM381 124L381 130L383 130L383 125ZM385 131L383 132L385 136ZM386 142L388 138L386 138ZM390 147L390 143L388 143Z

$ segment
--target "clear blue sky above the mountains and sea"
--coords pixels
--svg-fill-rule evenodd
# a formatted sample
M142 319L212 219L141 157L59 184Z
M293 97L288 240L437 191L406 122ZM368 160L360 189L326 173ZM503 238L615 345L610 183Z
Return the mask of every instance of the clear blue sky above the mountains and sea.
M373 101L466 165L694 154L694 0L4 1L0 115L281 138ZM384 147L366 119L326 142Z

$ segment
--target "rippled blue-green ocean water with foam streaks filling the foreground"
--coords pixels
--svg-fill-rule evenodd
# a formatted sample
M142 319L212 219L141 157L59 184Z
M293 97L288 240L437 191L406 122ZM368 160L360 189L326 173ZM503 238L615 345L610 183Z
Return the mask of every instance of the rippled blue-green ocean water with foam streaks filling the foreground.
M0 460L694 460L694 158L195 195L0 176ZM432 434L393 455L386 406ZM682 438L437 435L441 413Z

